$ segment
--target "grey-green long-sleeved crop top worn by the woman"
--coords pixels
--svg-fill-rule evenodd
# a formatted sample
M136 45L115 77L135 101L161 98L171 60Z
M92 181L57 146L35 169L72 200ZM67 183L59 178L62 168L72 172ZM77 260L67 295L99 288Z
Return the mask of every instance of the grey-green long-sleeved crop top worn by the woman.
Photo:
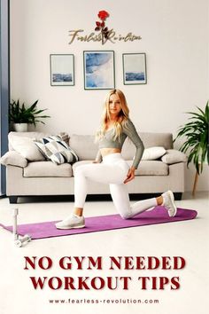
M122 149L122 145L125 142L125 139L127 137L129 137L131 139L131 141L134 143L135 148L136 148L136 152L135 152L135 159L133 161L133 165L132 167L135 167L135 169L137 169L139 162L142 159L143 156L143 141L142 139L138 136L138 133L135 130L135 126L134 124L128 120L126 123L126 126L123 127L122 133L120 135L120 139L113 139L114 137L114 131L113 129L111 130L107 130L104 133L104 137L102 137L99 140L99 150L101 148L119 148ZM97 161L101 161L102 159L102 155L100 153L100 151L98 151L97 153Z

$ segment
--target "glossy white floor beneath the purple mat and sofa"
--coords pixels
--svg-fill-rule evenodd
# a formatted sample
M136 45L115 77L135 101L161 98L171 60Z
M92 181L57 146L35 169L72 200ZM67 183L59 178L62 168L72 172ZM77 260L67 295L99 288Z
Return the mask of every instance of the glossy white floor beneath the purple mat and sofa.
M23 199L22 199L23 200ZM209 201L208 193L197 192L192 198L187 192L183 200L177 201L179 208L192 208L198 212L197 219L174 224L155 224L143 227L120 229L110 232L96 232L83 235L33 240L26 247L15 247L12 235L0 229L0 312L1 314L53 314L53 313L155 313L155 314L206 314L208 312L209 279ZM0 200L0 223L12 224L12 210L8 199ZM19 224L58 220L68 215L73 203L67 201L29 200L18 204ZM86 203L86 216L108 215L115 213L112 202L89 201ZM27 263L25 257L43 256L52 260L49 270L36 269ZM72 270L62 270L58 261L63 256L71 256ZM74 256L84 256L83 270L77 270ZM102 256L103 270L88 270L88 256ZM109 270L110 256L133 257L132 270ZM182 256L186 266L182 270L135 270L135 256ZM43 258L44 260L44 258ZM45 258L46 260L46 258ZM146 264L146 263L145 263ZM124 263L123 263L124 266ZM43 263L47 267L47 263ZM43 290L34 289L30 277L64 277L74 278L74 290L65 290L62 286L52 290L46 285ZM101 277L105 287L102 290L78 290L78 277L91 279ZM118 287L111 290L106 286L107 277ZM123 290L120 277L131 277L128 290ZM148 279L147 290L141 289L138 277L166 277L169 283L164 290L151 289ZM170 280L179 277L180 288L171 290ZM58 279L53 279L54 284ZM64 300L63 303L50 303L49 300ZM70 302L68 301L70 299ZM97 300L97 301L96 301ZM109 300L109 301L108 301ZM141 300L141 303L138 302ZM147 301L146 301L147 300ZM154 303L159 300L159 303ZM137 301L137 303L135 303ZM74 303L73 303L74 302ZM79 302L79 303L78 303ZM92 303L97 302L97 303ZM108 303L109 302L109 303ZM118 302L118 303L117 303ZM126 303L123 303L126 302Z

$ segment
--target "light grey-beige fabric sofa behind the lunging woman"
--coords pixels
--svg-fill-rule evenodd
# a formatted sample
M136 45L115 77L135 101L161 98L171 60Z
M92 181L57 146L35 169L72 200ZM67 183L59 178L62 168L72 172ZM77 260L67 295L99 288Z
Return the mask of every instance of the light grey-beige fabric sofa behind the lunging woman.
M139 133L145 148L163 146L166 153L157 160L141 161L135 171L135 180L128 183L130 194L161 193L170 189L175 198L181 200L184 192L184 163L186 156L174 150L170 133ZM57 165L52 161L30 161L12 147L12 138L39 139L49 134L41 132L10 132L9 152L0 160L6 166L6 194L11 203L19 196L35 195L74 195L74 169L79 164L92 162L97 154L93 136L72 135L65 137L80 161L72 166L69 163ZM127 138L122 154L131 165L135 146ZM106 184L89 183L89 194L109 194Z

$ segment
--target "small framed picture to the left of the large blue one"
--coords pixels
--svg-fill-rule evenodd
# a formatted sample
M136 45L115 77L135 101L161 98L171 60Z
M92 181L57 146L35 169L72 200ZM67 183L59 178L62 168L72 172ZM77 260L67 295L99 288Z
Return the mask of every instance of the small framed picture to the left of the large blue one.
M73 54L50 54L50 85L74 85Z

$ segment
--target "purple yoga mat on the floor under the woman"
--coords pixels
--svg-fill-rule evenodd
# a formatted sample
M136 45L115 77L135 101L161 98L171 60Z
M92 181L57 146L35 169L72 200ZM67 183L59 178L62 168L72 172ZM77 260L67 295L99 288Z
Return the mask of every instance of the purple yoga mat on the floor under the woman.
M157 206L152 210L145 211L142 214L127 220L122 219L120 215L87 217L85 219L86 226L81 229L58 230L55 227L55 223L57 223L57 221L35 224L19 224L18 233L19 235L28 234L32 239L44 239L71 234L139 227L147 224L174 223L182 220L194 219L196 216L196 210L178 208L176 216L169 217L164 207ZM3 226L4 229L12 232L12 226L4 226L3 224L0 225Z

